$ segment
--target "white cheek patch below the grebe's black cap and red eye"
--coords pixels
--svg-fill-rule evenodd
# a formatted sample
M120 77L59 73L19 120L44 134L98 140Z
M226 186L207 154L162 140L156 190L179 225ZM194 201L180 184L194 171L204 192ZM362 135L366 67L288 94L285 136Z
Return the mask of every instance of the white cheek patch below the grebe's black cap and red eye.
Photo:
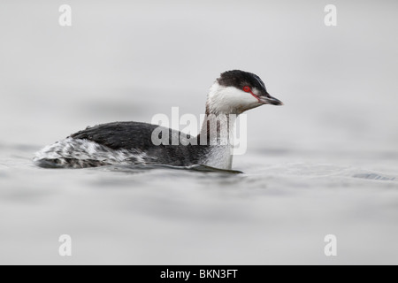
M210 88L208 105L212 113L247 111L261 103L255 96L233 87L222 87L217 82Z

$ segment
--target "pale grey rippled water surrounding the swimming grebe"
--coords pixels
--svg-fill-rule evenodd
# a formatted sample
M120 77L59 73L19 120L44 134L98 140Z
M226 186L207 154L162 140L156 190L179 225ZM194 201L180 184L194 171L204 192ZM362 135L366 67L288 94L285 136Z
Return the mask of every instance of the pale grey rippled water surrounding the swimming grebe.
M0 264L398 264L396 1L0 4ZM218 74L258 74L242 174L46 170L86 126L203 112ZM69 234L73 256L58 254ZM337 256L325 256L325 235Z

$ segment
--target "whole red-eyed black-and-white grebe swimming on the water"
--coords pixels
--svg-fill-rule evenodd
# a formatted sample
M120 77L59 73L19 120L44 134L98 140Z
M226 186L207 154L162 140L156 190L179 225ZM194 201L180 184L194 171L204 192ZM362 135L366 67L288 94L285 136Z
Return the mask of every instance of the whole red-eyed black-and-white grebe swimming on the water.
M256 75L242 71L222 73L210 88L206 103L208 116L195 138L162 126L115 122L72 134L36 153L34 162L42 167L62 168L110 164L203 164L231 169L233 149L230 137L233 136L234 119L230 118L264 103L281 104L266 93L264 83ZM220 129L222 125L226 126L226 131ZM163 142L154 142L154 136ZM175 137L178 137L177 143L172 140Z

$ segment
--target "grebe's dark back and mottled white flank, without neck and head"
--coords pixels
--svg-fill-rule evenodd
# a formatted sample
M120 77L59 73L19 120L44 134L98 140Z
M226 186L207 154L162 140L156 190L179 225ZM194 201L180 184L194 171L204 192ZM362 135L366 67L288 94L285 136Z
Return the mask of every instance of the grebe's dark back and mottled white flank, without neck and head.
M44 168L87 168L110 164L206 164L207 146L154 145L151 136L157 127L139 122L88 127L42 149L36 153L34 163ZM180 136L178 131L166 131L169 131L169 144L172 143L173 135Z

